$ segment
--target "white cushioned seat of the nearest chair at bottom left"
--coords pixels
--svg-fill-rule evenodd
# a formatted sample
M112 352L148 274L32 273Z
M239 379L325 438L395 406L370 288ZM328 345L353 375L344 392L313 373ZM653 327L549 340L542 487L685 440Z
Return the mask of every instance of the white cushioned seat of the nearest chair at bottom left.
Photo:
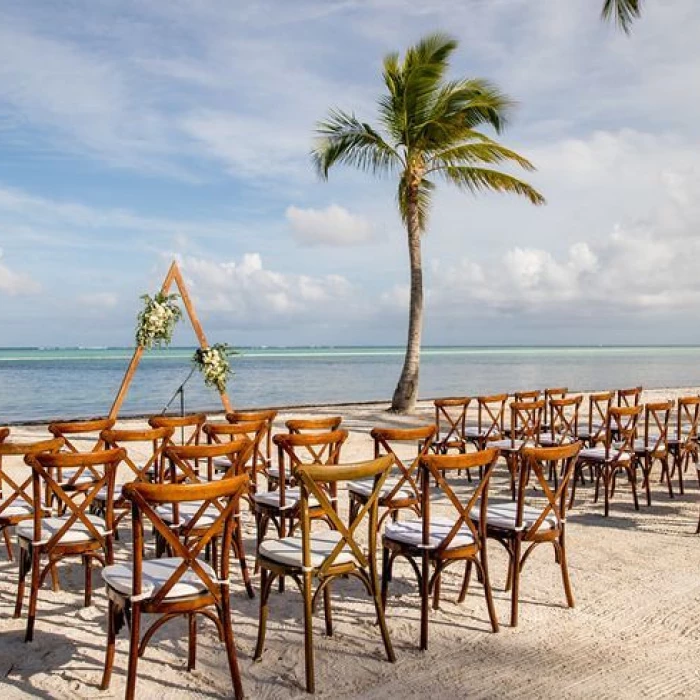
M164 557L162 559L146 559L141 569L141 594L153 597L159 588L165 584L175 569L182 563L180 557ZM214 570L201 559L197 560L208 576L217 581ZM102 569L102 580L117 593L130 596L133 594L133 569L128 564L113 564ZM166 600L189 598L199 595L209 589L204 581L194 571L186 571L178 582L168 591Z

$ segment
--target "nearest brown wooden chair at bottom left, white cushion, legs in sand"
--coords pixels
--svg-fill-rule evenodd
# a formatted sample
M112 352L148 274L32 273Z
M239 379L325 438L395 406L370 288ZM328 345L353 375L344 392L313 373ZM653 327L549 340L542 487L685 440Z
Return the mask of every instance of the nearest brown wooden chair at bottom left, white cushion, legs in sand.
M208 483L148 484L134 482L124 486L124 496L132 504L132 560L102 571L107 589L107 652L103 690L110 684L114 664L116 636L125 618L130 623L127 700L136 697L138 659L166 622L184 616L188 622L187 670L196 664L197 615L211 620L217 628L228 658L236 698L243 697L236 646L231 624L229 591L229 551L236 530L236 515L241 495L247 489L248 476L240 474ZM196 504L196 512L186 528L175 531L159 515L160 508L177 506L184 511ZM210 518L207 513L215 512ZM172 556L146 559L144 523L150 522L168 544ZM197 532L197 536L194 536ZM200 556L215 538L222 537L222 556L218 565L210 565ZM212 610L213 608L213 610ZM141 636L142 616L159 617Z

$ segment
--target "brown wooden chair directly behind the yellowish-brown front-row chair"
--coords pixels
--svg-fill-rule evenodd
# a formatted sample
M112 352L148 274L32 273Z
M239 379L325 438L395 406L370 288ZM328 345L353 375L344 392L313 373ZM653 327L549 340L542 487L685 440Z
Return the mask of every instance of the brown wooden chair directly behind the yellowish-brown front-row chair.
M331 474L340 460L340 450L348 438L347 430L325 433L280 433L273 442L278 449L281 478L274 491L258 491L253 496L257 526L258 550L267 535L270 522L275 525L278 537L294 534L296 522L301 517L301 491L297 485L296 471L304 464L323 467ZM335 482L329 481L330 498L337 502ZM310 518L324 518L320 504L313 499L309 503ZM257 564L256 564L257 568Z

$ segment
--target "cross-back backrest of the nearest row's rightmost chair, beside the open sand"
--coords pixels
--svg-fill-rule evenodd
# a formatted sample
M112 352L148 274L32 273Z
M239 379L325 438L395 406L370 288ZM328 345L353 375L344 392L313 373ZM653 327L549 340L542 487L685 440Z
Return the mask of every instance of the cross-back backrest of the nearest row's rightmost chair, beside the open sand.
M541 529L547 532L548 537L552 533L563 530L566 523L567 492L580 450L581 443L574 442L556 447L526 447L522 451L522 465L518 474L515 529L525 531L523 536L525 541L534 540L538 535L542 535ZM562 463L561 478L554 491L547 479L553 463ZM534 507L530 498L527 498L526 504L527 491L533 482L538 494L541 493L545 501L537 518L528 515L528 521L532 524L525 528L525 506Z

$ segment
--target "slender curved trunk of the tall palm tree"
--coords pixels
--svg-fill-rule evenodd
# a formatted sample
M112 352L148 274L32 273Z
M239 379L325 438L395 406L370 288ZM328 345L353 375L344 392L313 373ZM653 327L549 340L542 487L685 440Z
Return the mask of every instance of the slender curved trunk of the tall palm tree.
M408 317L408 341L406 357L396 385L391 410L410 413L418 396L418 370L420 367L420 343L423 331L423 266L420 249L420 224L418 219L418 188L412 188L407 197L408 255L411 265L411 300Z

